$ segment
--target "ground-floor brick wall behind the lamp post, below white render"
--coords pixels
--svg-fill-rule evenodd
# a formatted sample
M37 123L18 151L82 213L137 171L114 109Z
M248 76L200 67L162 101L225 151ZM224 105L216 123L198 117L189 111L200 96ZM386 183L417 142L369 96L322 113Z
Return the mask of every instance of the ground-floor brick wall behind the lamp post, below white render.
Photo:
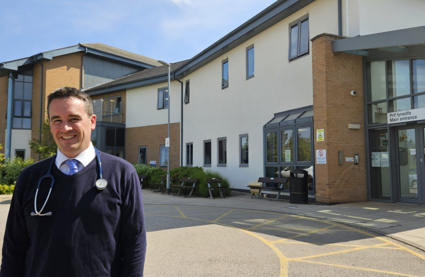
M170 169L180 166L180 123L169 125L170 133ZM139 146L147 146L147 164L157 161L159 167L160 146L165 144L167 124L125 129L125 160L137 164ZM166 167L163 168L165 171Z

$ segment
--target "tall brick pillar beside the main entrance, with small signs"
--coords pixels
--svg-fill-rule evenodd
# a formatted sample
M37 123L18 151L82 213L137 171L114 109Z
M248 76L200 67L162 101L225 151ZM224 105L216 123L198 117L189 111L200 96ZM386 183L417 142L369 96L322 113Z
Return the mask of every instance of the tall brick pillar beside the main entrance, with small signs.
M363 58L333 53L334 39L339 38L322 34L311 39L314 129L325 129L324 142L314 136L314 149L326 149L327 155L327 164L315 165L316 201L322 204L367 200ZM357 95L351 96L352 90ZM348 129L350 123L361 127ZM342 165L338 151L343 151ZM358 165L345 161L354 154Z

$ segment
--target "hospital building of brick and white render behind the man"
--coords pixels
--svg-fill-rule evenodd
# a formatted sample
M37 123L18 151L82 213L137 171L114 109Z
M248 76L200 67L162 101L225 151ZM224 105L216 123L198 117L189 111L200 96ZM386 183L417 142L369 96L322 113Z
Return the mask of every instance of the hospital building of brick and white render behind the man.
M200 166L241 191L301 168L318 204L425 204L424 11L422 0L279 0L172 63L169 89L158 60L101 43L3 62L2 151L38 160L28 141L47 95L72 86L92 97L93 144L130 163Z

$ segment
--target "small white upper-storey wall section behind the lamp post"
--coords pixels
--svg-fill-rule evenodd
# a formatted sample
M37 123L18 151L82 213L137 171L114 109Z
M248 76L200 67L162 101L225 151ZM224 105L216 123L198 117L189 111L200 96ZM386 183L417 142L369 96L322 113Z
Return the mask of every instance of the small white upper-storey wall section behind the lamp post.
M158 89L167 87L167 82L127 90L125 128L167 124L168 109L157 109ZM170 123L180 122L181 86L173 81L171 86Z

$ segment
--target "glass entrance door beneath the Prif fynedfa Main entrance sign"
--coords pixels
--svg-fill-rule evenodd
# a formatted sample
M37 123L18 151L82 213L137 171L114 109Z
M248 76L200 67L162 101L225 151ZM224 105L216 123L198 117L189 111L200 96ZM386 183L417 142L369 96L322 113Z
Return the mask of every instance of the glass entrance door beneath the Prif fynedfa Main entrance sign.
M412 127L396 130L398 201L421 204L425 184L425 126Z

